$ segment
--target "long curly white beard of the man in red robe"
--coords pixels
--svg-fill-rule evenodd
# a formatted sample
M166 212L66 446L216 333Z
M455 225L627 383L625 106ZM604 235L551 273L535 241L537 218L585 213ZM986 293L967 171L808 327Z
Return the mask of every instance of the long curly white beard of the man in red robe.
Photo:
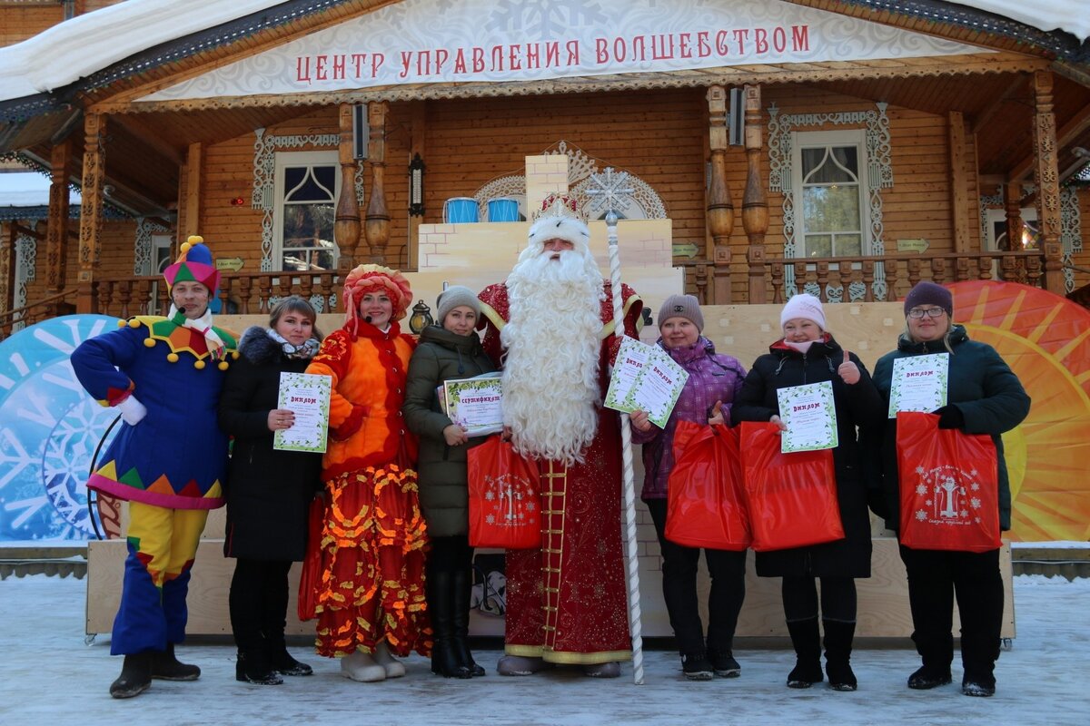
M582 462L601 401L602 273L573 250L523 257L507 279L510 321L500 333L504 422L519 453Z

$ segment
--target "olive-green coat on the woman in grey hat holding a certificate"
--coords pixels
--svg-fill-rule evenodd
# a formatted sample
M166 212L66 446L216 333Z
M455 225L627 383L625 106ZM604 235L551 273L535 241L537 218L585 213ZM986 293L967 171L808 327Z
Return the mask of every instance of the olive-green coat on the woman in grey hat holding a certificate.
M473 378L495 370L476 333L458 335L428 325L409 361L405 401L401 406L409 430L420 436L420 505L432 537L469 533L465 452L484 441L448 446L443 430L450 419L439 408L436 389L448 379Z

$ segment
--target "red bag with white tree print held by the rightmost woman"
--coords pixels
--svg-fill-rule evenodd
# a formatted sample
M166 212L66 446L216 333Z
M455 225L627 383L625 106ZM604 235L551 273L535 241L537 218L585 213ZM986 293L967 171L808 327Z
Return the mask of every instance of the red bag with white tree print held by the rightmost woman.
M933 414L897 414L900 543L913 550L997 550L1000 477L986 434L940 429Z

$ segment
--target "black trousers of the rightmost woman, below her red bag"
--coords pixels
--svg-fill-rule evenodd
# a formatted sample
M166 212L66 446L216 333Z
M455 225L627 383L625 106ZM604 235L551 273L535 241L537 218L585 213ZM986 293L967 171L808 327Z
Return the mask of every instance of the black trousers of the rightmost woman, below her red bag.
M912 640L924 665L954 660L954 598L961 616L961 662L970 677L989 678L1000 656L1003 576L1000 551L954 552L900 547L908 571Z

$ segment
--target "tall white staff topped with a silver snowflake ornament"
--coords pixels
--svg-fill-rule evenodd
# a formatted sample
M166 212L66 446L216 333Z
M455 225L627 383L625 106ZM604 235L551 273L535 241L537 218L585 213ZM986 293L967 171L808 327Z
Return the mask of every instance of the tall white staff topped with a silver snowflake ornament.
M617 245L617 209L627 209L632 199L628 185L628 172L614 172L607 168L593 174L586 196L591 197L591 210L606 210L606 230L609 233L609 279L613 284L614 334L625 336L623 292L620 286L620 251ZM622 492L625 495L625 544L628 565L628 623L632 636L632 680L643 684L643 626L640 614L640 562L635 549L635 477L632 470L632 431L629 429L628 414L620 415L621 466L623 470Z

